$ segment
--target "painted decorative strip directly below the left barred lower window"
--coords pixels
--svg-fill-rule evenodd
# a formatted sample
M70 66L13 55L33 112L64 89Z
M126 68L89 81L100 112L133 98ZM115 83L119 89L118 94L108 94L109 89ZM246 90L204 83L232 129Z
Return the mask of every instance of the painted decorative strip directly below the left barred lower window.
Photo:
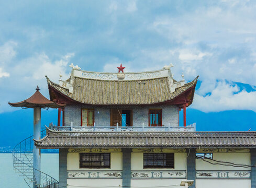
M121 171L68 171L68 179L121 179Z

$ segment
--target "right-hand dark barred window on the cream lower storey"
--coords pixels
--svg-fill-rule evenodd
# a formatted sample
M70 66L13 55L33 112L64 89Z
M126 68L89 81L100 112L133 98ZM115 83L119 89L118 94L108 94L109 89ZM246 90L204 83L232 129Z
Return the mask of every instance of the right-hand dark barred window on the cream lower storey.
M143 154L143 168L174 168L174 154Z

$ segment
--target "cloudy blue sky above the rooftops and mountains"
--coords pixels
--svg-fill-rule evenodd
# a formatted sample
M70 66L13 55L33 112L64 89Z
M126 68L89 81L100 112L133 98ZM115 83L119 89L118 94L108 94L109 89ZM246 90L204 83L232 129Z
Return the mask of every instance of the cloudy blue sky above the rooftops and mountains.
M256 1L0 3L0 113L37 85L49 97L45 75L66 79L71 63L97 72L172 63L176 80L199 75L191 109L256 112Z

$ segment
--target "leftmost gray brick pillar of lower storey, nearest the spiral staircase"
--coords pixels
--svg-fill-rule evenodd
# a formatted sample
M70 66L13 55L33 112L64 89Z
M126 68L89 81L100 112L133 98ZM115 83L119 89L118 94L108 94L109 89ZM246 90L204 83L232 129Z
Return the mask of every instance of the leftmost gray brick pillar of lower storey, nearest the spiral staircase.
M66 157L68 155L68 149L59 149L59 187L66 187Z

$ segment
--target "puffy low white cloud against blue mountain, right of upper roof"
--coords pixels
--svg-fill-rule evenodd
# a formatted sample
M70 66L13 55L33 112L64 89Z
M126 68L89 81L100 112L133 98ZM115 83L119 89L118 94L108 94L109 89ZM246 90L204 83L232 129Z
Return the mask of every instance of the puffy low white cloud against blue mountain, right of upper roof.
M203 112L219 112L225 110L253 110L256 112L256 91L240 92L237 86L220 81L212 90L211 95L194 96L192 108Z

